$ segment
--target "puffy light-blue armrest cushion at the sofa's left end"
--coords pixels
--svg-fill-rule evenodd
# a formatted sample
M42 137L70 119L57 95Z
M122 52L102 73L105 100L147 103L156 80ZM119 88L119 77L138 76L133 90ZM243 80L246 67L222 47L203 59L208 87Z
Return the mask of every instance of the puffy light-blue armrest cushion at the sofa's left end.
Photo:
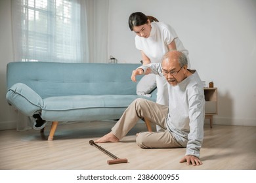
M9 88L7 102L14 105L18 110L27 116L33 116L37 110L43 107L43 100L26 84L16 83Z

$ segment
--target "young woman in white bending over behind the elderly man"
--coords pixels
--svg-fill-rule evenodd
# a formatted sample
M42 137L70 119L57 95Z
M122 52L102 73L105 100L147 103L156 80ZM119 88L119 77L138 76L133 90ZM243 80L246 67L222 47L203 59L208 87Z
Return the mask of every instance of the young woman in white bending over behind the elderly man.
M141 52L143 65L161 62L161 58L169 50L178 50L188 58L188 50L184 48L173 27L158 22L153 16L134 12L129 17L129 27L137 34L135 45ZM146 74L148 73L150 70L146 71ZM158 87L156 102L168 105L167 81L163 76L156 75L156 84Z

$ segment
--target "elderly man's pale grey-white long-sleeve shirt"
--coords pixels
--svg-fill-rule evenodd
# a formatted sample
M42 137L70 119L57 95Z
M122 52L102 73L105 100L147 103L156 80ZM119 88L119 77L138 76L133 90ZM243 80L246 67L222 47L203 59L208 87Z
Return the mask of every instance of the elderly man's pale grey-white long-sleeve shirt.
M139 67L146 71L150 67L152 73L161 73L161 63L150 63ZM195 70L189 70L188 76L177 86L168 84L169 113L167 130L181 146L186 147L186 155L199 158L203 142L203 123L205 117L205 98L200 76Z

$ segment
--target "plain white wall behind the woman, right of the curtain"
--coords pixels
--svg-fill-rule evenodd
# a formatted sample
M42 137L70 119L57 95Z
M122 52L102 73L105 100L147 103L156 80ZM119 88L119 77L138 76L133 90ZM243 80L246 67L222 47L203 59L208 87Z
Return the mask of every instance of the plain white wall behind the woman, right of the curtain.
M191 67L219 92L215 124L256 125L255 0L110 0L110 55L139 63L128 18L141 11L174 27Z

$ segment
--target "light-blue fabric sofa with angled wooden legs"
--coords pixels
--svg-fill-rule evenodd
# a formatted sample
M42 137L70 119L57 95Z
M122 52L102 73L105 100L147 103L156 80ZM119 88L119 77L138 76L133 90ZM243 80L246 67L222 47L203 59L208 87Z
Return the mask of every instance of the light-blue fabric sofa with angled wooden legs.
M138 97L131 73L139 64L11 62L7 102L26 116L41 112L52 122L116 120ZM137 79L142 78L139 76ZM156 101L156 90L152 97Z

